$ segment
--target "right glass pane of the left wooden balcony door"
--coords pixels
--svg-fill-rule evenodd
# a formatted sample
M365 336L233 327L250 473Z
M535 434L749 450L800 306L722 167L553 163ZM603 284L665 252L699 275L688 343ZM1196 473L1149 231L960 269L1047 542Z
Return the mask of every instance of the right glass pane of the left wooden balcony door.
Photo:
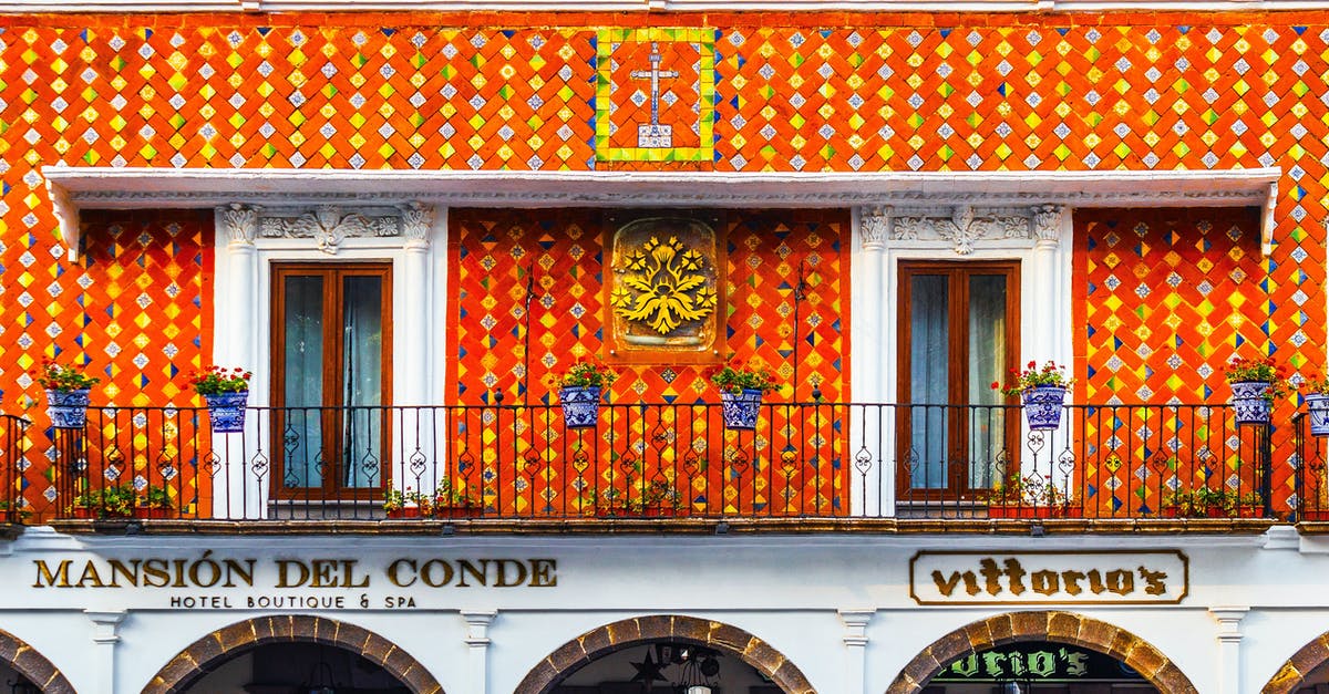
M342 485L376 487L383 451L383 279L344 277L342 296Z

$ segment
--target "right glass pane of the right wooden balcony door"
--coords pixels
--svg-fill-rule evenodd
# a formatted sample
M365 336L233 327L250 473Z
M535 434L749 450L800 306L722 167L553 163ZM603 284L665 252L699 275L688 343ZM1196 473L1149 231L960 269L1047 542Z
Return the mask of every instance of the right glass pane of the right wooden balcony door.
M969 278L969 485L990 488L993 461L1002 451L1006 412L993 390L1006 363L1006 275Z

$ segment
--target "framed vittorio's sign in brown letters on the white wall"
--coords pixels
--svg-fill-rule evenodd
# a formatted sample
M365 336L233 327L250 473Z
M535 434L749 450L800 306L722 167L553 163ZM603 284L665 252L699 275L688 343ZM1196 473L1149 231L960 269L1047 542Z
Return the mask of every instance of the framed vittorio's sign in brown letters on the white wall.
M1162 552L920 552L909 596L920 605L1176 605L1189 565Z

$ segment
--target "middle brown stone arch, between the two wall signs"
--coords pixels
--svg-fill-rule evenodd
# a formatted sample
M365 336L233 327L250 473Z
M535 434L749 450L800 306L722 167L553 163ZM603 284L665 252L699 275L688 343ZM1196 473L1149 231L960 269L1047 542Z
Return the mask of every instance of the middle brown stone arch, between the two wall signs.
M734 655L771 678L785 694L816 694L803 671L766 641L732 625L682 614L633 617L591 629L540 661L513 694L548 694L582 665L661 639L691 642Z

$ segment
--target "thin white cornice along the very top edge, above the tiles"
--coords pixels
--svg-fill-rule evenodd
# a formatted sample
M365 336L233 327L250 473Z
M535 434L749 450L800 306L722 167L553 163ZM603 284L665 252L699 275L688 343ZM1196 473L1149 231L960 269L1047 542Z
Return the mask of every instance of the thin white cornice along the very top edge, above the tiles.
M1267 12L1324 9L1322 0L8 0L0 13L76 12Z

